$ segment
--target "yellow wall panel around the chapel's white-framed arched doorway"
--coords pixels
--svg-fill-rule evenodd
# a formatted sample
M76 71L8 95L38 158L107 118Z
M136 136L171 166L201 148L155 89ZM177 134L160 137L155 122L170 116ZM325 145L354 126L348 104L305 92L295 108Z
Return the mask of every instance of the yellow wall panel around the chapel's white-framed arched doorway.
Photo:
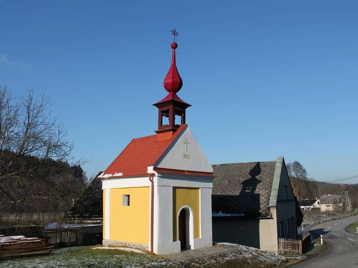
M178 241L178 213L184 206L190 206L194 214L194 238L200 238L200 192L199 188L173 187L173 241Z

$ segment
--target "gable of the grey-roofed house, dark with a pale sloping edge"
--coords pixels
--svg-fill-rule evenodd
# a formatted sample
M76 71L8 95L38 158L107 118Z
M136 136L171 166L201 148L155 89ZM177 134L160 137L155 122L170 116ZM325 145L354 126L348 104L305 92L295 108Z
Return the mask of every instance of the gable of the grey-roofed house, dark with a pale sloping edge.
M274 181L270 197L270 206L276 206L277 201L294 200L293 190L287 173L283 156L277 157Z

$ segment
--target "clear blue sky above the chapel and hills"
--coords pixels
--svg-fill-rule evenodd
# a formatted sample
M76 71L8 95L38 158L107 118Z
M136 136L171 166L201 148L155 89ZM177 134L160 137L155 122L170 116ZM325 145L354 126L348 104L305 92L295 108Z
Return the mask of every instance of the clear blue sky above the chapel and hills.
M212 164L283 155L317 180L358 174L355 0L34 0L0 10L0 83L50 96L88 176L154 134L173 28L178 95Z

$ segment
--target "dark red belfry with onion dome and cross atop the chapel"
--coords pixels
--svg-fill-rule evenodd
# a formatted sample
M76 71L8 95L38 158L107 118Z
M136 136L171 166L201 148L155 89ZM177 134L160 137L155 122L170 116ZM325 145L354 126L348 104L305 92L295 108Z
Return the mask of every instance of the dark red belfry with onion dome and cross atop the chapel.
M181 125L185 124L185 109L191 106L176 95L183 86L183 80L175 63L175 49L178 48L178 44L175 43L175 36L179 34L175 29L171 33L174 35L174 42L170 45L173 53L169 72L163 82L163 86L169 94L161 101L153 104L158 108L158 130L155 131L156 133L176 131Z

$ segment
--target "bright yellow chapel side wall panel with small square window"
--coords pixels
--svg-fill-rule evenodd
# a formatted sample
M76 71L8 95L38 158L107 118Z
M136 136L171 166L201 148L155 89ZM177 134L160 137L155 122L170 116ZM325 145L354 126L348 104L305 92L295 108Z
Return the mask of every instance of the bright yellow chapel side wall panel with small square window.
M123 195L130 195L129 206ZM149 187L111 189L110 240L149 244L149 201Z

